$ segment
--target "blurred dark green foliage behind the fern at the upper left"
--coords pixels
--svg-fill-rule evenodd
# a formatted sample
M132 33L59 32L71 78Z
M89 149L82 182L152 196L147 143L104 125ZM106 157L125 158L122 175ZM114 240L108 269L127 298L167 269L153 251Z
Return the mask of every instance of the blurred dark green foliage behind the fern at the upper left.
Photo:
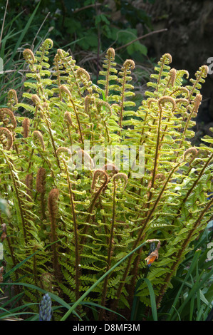
M97 53L98 43L101 51L112 43L115 43L115 46L123 46L139 37L138 22L145 33L152 30L150 15L131 2L121 0L115 1L114 4L106 4L103 1L97 3L94 0L53 0L51 2L33 0L29 3L26 0L18 2L10 0L1 53L4 53L6 39L10 38L11 45L13 43L16 45L17 36L19 39L25 37L28 25L31 29L28 29L28 38L23 39L24 43L33 41L39 30L40 36L48 36L61 46L76 41L74 43L76 51L89 50ZM113 16L115 12L120 15ZM36 20L33 17L35 13ZM4 10L1 15L3 19ZM100 41L98 41L98 35ZM140 52L141 46L145 50L142 44L137 42L133 44L136 52Z

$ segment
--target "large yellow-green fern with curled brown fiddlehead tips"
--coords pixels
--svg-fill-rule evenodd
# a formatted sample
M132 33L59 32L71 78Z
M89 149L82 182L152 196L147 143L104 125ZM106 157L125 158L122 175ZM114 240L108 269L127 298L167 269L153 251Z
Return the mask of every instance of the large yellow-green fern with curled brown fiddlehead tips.
M95 86L66 51L58 49L51 68L52 47L46 39L35 54L24 51L29 69L24 102L11 88L8 108L0 110L1 197L11 212L0 217L6 224L6 266L38 250L12 279L71 303L143 240L159 239L158 259L148 273L145 246L86 299L128 315L136 281L147 275L160 306L212 215L211 140L199 148L190 143L207 66L183 86L187 71L170 68L172 57L166 53L148 83L147 98L135 110L132 60L118 72L110 48ZM144 167L142 174L135 172L138 167ZM145 282L137 294L150 306ZM41 299L37 292L26 296Z

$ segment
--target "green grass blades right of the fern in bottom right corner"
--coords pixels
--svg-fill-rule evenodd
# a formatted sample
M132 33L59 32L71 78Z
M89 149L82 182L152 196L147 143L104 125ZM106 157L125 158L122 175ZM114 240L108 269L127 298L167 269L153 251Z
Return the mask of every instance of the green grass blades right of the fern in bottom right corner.
M213 301L213 259L209 257L211 254L209 248L212 246L208 247L207 244L212 240L212 223L209 222L203 234L194 242L194 249L187 254L176 276L173 277L172 287L167 290L158 311L162 319L173 321L207 319Z

